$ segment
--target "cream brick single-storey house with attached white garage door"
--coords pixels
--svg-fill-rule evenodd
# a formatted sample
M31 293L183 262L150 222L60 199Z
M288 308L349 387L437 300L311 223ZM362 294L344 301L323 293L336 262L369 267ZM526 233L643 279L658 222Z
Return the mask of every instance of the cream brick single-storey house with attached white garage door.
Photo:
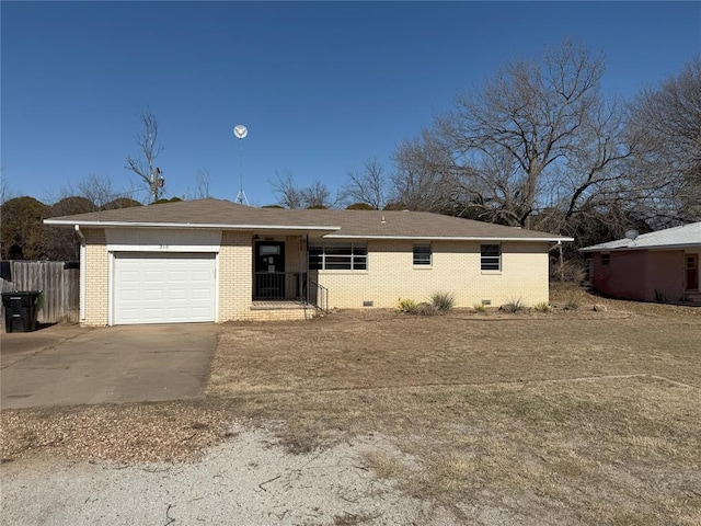
M200 199L46 219L81 239L84 325L303 319L452 293L548 301L549 233L414 211Z

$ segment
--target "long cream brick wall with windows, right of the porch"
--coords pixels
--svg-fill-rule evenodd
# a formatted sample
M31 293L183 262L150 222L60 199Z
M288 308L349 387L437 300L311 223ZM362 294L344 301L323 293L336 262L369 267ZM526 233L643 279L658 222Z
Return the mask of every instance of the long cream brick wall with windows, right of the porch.
M457 307L483 299L499 306L513 299L527 305L548 301L547 243L502 243L502 271L480 270L480 243L432 243L433 264L413 265L413 242L369 241L367 271L320 271L319 283L329 289L330 308L392 308L399 298L427 300L447 291Z

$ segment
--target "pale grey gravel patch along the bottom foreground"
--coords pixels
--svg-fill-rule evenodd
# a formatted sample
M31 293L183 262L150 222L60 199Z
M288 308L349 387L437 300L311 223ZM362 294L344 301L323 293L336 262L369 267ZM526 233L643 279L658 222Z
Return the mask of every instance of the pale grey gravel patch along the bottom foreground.
M2 522L34 525L457 524L364 466L401 456L377 435L290 455L265 430L235 435L187 464L19 459L2 469ZM494 523L493 523L494 524Z

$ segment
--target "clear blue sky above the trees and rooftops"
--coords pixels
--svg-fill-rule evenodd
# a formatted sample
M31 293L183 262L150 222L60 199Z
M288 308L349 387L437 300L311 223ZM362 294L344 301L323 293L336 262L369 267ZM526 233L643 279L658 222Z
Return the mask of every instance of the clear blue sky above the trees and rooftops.
M168 196L276 202L269 181L337 188L508 60L564 38L604 52L629 98L701 53L700 2L8 2L1 158L46 203L90 174L137 184L137 112L159 122ZM237 124L249 128L239 145ZM141 194L139 198L146 197Z

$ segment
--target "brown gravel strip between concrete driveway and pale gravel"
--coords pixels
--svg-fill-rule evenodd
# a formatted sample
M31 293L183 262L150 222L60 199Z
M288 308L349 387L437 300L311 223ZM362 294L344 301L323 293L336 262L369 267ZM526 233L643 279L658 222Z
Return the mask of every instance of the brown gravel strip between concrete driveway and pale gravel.
M0 458L183 461L227 438L230 422L202 401L3 410Z

